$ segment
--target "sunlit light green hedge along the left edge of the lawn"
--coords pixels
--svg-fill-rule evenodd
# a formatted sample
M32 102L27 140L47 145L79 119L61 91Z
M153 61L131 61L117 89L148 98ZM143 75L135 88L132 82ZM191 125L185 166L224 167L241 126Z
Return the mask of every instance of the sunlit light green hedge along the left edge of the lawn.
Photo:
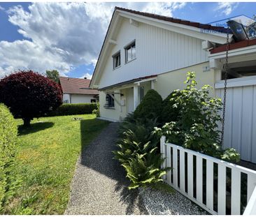
M0 104L0 214L15 193L17 177L13 174L17 126L8 108Z

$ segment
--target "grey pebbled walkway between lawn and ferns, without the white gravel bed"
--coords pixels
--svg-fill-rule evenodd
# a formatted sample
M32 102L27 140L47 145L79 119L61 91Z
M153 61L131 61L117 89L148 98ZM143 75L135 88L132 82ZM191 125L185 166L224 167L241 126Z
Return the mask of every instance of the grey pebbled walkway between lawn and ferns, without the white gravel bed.
M82 150L65 214L146 214L138 190L127 190L125 171L113 159L117 128L117 123L109 124Z

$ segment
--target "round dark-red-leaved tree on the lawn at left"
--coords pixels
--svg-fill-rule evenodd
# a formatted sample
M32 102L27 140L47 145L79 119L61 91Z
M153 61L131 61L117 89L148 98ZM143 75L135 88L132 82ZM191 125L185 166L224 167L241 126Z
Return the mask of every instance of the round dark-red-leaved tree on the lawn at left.
M62 88L32 70L19 71L0 80L0 103L10 107L15 118L22 118L24 126L30 126L34 117L62 105Z

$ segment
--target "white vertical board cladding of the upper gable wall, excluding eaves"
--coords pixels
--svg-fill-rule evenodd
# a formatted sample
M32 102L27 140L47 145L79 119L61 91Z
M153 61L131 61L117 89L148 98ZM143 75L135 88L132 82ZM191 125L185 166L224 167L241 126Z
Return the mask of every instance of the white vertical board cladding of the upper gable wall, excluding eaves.
M99 88L136 77L166 73L178 68L208 61L201 40L169 30L140 23L138 27L124 19L111 54L101 73ZM125 45L136 40L136 59L125 63ZM112 55L120 51L121 66L113 70Z

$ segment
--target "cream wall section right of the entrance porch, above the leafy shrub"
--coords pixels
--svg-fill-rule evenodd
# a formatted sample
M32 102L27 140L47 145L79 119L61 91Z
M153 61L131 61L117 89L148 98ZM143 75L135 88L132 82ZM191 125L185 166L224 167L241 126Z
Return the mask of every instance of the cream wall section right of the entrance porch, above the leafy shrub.
M181 68L178 70L173 70L169 73L163 73L157 76L157 82L155 82L155 90L162 96L166 96L171 93L171 91L176 89L184 89L187 85L184 84L186 80L186 74L188 71L194 71L196 73L197 87L200 88L204 84L209 84L214 88L215 84L215 72L214 70L203 71L203 67L208 66L208 62L190 66L187 68ZM212 96L215 95L215 90L211 91Z

